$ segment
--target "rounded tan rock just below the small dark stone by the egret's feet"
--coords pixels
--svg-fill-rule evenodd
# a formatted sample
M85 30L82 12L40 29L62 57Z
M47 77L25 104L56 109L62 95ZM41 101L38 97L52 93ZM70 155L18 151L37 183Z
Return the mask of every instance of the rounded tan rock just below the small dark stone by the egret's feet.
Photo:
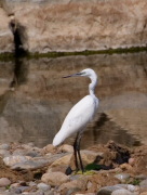
M57 186L63 183L66 183L69 180L69 177L64 174L63 172L48 172L44 173L41 178L41 181L48 183L52 186Z

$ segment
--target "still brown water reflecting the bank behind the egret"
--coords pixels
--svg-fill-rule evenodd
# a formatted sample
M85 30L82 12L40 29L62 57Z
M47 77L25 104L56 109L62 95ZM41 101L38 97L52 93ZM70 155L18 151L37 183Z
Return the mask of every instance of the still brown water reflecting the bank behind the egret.
M99 108L82 147L113 140L147 144L147 53L17 58L0 62L0 142L52 143L68 110L88 94L88 78L62 76L93 68ZM72 143L74 136L66 140Z

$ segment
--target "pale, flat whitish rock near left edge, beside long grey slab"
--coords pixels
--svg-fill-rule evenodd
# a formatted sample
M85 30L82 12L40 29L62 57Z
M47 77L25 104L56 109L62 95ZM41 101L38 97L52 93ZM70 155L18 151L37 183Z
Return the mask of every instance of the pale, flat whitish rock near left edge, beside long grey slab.
M3 161L6 166L14 166L15 164L21 164L21 162L25 162L27 161L28 159L30 159L30 157L28 156L19 156L19 155L16 155L16 156L8 156L8 157L4 157L3 158Z

